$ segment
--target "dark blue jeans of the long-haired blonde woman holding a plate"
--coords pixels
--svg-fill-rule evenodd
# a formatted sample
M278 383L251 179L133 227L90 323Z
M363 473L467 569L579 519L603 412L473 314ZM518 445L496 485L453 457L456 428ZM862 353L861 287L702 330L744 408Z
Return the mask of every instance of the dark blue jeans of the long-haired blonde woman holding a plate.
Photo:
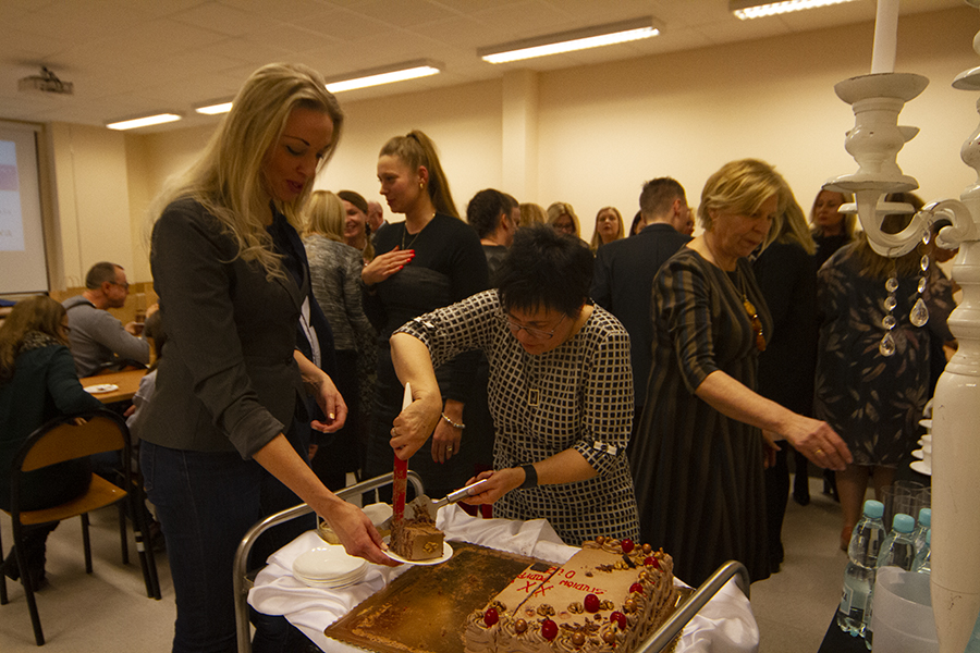
M234 652L232 576L238 543L262 517L302 502L258 463L235 452L187 452L144 441L139 464L167 539L177 608L174 653ZM309 517L269 531L254 559L264 563L266 555L315 528Z

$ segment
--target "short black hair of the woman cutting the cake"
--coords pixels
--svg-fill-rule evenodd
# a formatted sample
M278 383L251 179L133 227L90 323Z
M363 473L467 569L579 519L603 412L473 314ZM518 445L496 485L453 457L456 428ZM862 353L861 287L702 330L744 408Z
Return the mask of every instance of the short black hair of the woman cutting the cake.
M589 297L592 252L580 238L548 224L517 230L498 271L504 310L550 308L575 316Z

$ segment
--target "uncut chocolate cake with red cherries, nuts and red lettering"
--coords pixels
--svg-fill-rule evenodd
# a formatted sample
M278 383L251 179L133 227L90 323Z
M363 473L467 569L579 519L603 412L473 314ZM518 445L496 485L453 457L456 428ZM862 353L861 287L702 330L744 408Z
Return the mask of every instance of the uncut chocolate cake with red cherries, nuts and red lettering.
M599 538L558 568L525 569L463 625L467 653L629 653L675 603L673 559Z

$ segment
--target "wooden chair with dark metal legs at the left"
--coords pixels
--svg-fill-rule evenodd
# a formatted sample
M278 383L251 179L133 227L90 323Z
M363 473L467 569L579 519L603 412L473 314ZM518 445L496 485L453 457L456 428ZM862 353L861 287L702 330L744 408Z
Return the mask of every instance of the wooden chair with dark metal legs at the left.
M93 473L88 491L81 496L61 505L40 510L20 509L21 485L24 472L105 452L122 453L120 458L122 468L120 475L121 484L111 483L99 475ZM130 491L127 492L126 489ZM11 470L11 509L9 514L13 523L14 546L16 563L21 571L21 583L24 586L27 607L30 612L30 623L34 626L34 637L38 646L44 645L45 636L41 631L40 617L34 596L36 588L33 587L30 574L27 569L27 560L24 556L24 527L81 517L85 571L91 574L88 513L114 503L120 504L121 515L128 512L134 518L136 549L139 553L147 596L159 599L160 590L157 582L157 566L152 545L149 543L148 545L143 545L143 533L147 533L143 488L142 483L134 483L130 432L121 417L107 410L98 410L81 416L56 418L34 431L24 442L16 458L14 458ZM125 519L122 517L120 531L123 563L125 564L128 556ZM3 544L0 542L0 551L2 551L2 546ZM7 579L0 574L0 605L7 602Z

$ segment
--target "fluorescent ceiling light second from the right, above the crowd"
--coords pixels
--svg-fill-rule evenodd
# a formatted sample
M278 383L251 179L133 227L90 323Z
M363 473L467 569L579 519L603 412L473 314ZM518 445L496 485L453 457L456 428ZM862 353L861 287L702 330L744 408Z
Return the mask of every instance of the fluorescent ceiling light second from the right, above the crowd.
M653 25L653 17L648 16L480 48L477 50L477 56L490 63L506 63L509 61L520 61L535 57L547 57L548 54L560 54L562 52L624 44L641 38L650 38L658 34L660 34L660 29Z

